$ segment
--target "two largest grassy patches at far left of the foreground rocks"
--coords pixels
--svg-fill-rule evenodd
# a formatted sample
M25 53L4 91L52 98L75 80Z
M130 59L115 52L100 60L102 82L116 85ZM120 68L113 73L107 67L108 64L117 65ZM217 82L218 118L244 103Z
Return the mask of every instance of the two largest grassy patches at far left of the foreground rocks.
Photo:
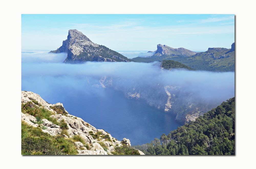
M21 106L24 114L34 116L37 121L32 121L39 124L39 127L33 127L26 122L21 122L21 150L23 155L58 155L58 154L77 154L75 141L81 140L79 136L74 138L61 137L62 134L67 133L67 123L64 121L58 122L56 118L50 117L54 113L34 105L32 102L27 102ZM47 119L54 124L60 125L62 131L58 136L51 136L48 133L42 132L44 129L42 119ZM82 142L83 143L83 142Z

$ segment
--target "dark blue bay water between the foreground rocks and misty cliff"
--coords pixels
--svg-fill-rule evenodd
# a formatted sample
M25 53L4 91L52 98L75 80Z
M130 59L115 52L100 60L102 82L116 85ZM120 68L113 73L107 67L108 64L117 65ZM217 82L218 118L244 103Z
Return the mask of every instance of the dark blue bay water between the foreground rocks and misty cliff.
M113 89L98 88L97 93L88 93L55 88L54 93L49 93L41 86L22 85L22 90L38 93L49 103L61 102L70 114L97 129L104 129L118 140L129 138L132 145L150 143L182 125L175 121L174 115L148 106L144 101L127 99Z

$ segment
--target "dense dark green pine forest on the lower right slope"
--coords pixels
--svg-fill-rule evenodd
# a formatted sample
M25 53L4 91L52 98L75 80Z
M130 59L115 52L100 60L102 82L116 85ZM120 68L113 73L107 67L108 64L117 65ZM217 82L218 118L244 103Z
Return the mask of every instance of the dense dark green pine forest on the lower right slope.
M148 155L234 155L235 98L168 135L135 148Z

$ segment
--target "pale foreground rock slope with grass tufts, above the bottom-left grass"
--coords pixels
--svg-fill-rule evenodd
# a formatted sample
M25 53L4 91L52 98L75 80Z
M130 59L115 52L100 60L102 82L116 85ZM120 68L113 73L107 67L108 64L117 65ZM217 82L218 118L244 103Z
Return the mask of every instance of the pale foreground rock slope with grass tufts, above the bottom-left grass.
M21 113L23 123L25 122L26 125L34 128L40 128L42 132L52 136L52 139L69 141L76 147L78 155L111 155L116 154L116 149L123 146L131 148L129 139L124 138L119 141L104 130L96 129L83 119L68 114L61 103L49 104L38 94L27 91L21 92L21 103L23 106ZM43 112L49 116L43 115L48 120L41 118ZM78 136L83 141L75 140ZM134 150L144 155L143 152Z

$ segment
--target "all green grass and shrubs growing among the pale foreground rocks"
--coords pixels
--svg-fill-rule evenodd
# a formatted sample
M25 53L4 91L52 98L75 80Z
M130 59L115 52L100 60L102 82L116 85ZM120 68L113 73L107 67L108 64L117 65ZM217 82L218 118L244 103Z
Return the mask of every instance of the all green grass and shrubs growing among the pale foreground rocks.
M64 110L59 106L51 108L55 108L57 112L64 113ZM38 124L38 127L33 127L27 124L25 121L21 121L22 155L74 155L78 153L74 142L81 142L84 147L87 148L87 150L91 149L90 145L86 144L85 140L80 135L74 135L71 138L62 136L63 134L68 135L68 124L64 121L64 119L57 121L56 118L50 117L54 114L53 112L43 107L38 107L32 102L22 104L21 109L24 114L34 116L37 120L31 122ZM48 133L44 133L41 130L45 127L42 125L42 119L47 119L52 123L59 125L61 128L61 134L57 136L51 136ZM98 141L104 138L106 141L115 142L115 140L112 140L109 135L103 135L102 132L93 134L90 131L89 134L92 135L94 139L98 139ZM105 143L99 142L99 144L105 151L108 150L108 147L105 145ZM113 154L116 155L140 155L138 150L132 147L127 147L126 145L115 147L115 149L116 151L114 151Z

